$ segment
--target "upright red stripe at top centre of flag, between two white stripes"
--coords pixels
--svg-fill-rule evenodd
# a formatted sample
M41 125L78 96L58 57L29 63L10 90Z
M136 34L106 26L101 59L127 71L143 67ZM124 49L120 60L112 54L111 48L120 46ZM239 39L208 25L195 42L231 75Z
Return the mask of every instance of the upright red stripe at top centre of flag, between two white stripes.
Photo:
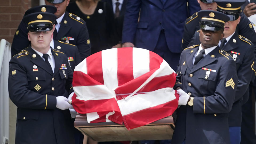
M130 59L130 61L127 61ZM117 79L118 86L133 80L133 49L117 49ZM125 71L125 73L124 73Z

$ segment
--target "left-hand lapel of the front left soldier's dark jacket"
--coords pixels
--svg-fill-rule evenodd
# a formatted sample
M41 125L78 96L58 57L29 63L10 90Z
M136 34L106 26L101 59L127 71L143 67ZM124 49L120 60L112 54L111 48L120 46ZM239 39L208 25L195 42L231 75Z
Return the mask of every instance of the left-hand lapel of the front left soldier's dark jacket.
M29 55L31 57L31 62L33 62L36 66L41 67L42 69L44 69L47 73L52 74L50 68L47 66L46 62L43 60L43 58L40 57L40 55L38 55L32 48L31 46L29 46L29 48L27 49L27 51L29 52ZM34 55L34 57L33 57ZM32 67L31 67L32 69Z

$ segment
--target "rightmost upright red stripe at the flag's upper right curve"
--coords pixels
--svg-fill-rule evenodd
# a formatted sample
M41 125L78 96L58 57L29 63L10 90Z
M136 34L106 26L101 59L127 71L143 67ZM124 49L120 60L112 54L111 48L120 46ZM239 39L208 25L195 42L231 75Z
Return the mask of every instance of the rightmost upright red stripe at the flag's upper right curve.
M163 62L163 58L160 57L158 54L149 51L149 70L153 70L153 69L159 69L161 63Z

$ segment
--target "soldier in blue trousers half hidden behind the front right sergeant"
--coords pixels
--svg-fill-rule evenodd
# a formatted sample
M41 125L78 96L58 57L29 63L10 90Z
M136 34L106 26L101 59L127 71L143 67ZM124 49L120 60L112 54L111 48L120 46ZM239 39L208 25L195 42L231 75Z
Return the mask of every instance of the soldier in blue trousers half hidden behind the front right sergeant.
M229 113L229 131L230 131L230 143L239 144L241 141L241 123L242 113L241 106L242 101L249 97L249 84L250 81L254 81L255 70L253 69L255 57L254 57L254 45L249 39L239 35L236 31L237 24L240 22L241 9L244 1L229 1L227 0L215 0L217 3L217 11L225 13L230 17L230 21L225 23L224 38L219 41L219 47L225 50L236 62L238 86L235 94L235 101L232 110ZM230 7L229 9L227 9ZM200 31L196 31L190 44L200 44L199 41Z

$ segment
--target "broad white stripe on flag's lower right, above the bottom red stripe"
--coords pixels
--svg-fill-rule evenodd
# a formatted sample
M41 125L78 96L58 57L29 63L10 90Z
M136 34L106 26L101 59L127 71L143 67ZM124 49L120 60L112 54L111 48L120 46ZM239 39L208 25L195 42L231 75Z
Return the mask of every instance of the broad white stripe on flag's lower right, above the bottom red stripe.
M166 87L145 94L137 94L127 100L121 99L118 100L117 103L122 116L124 116L136 111L164 104L175 98L175 91L173 88Z

